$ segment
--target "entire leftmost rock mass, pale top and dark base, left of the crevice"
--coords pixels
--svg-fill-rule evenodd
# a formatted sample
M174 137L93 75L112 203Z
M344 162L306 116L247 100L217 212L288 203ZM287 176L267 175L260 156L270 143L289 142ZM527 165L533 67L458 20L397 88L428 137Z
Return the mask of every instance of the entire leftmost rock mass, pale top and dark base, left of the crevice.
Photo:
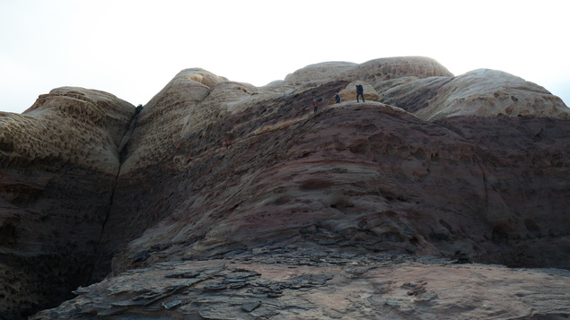
M53 307L89 283L135 108L58 88L0 114L0 314Z

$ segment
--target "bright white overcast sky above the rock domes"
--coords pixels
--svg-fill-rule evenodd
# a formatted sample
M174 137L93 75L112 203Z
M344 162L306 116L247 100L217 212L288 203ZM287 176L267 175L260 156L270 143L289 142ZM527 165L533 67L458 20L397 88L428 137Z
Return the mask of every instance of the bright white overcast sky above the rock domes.
M501 70L570 105L565 1L2 0L0 111L75 86L145 104L200 67L262 86L306 65L429 56Z

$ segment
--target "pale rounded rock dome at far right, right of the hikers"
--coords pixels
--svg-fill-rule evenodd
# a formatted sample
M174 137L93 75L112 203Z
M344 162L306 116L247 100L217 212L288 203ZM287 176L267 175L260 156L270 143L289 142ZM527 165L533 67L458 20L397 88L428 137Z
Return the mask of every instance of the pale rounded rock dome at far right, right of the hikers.
M546 89L496 70L389 85L386 101L399 105L399 99L413 98L414 113L428 121L457 116L570 118L564 102ZM417 93L410 97L406 93L410 90Z

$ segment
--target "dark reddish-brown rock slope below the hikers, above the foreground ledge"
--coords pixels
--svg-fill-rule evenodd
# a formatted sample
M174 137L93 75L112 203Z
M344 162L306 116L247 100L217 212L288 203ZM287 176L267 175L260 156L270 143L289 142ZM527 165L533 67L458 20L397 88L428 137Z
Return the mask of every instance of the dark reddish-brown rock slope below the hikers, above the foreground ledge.
M258 123L267 125L267 119ZM478 124L502 143L473 143L481 137L464 134L469 141L375 103L345 103L296 121L253 125L229 146L215 131L189 136L174 156L169 176L176 178L161 181L170 207L152 199L137 206L136 223L151 212L164 217L119 255L117 271L141 256L151 262L208 256L267 241L328 241L376 252L540 266L546 260L539 252L547 254L545 246L560 240L560 252L548 252L548 265L569 267L566 122ZM533 146L539 132L552 143ZM531 147L520 149L526 144ZM555 154L548 153L550 146ZM504 160L505 150L517 155Z

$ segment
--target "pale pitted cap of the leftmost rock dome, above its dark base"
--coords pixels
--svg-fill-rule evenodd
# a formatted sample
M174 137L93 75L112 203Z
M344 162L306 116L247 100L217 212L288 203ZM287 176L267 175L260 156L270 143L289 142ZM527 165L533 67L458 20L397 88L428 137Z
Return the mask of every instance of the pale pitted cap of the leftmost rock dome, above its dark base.
M0 114L3 166L61 160L117 174L118 146L134 114L131 104L107 92L54 89L22 115Z

